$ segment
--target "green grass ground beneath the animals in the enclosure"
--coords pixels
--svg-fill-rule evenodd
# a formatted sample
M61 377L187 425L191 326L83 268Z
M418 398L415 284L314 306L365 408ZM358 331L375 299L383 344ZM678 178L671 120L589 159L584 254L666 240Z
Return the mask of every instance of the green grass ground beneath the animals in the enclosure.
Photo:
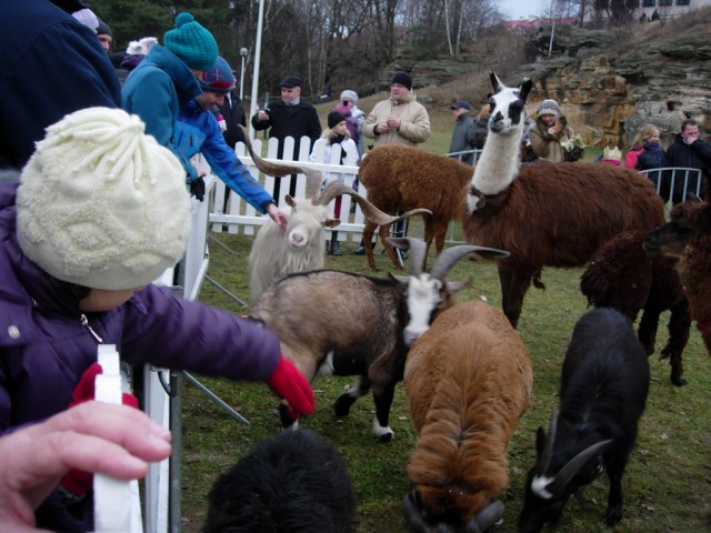
M374 101L375 99L373 99ZM361 102L369 110L372 103ZM328 109L324 113L328 112ZM451 114L447 110L431 111L433 139L425 147L438 153L447 151L451 132ZM411 234L418 235L413 223ZM247 255L251 238L217 235L227 248L210 244L209 274L242 299L249 298ZM370 273L365 259L352 254L356 243L343 244L344 254L327 257L326 266ZM379 275L392 270L385 255L375 261ZM505 504L504 520L495 532L514 532L522 503L525 472L534 461L534 433L547 425L550 411L557 404L557 390L562 358L575 321L585 312L585 300L579 290L581 269L543 272L547 289L531 289L519 333L530 350L534 383L531 408L522 418L509 446L510 485L501 494ZM485 299L501 305L495 266L489 261L460 261L449 279L471 279L458 300ZM200 299L216 306L244 314L241 308L222 292L206 283ZM662 315L665 324L668 315ZM662 324L658 351L667 339ZM226 346L228 349L228 346ZM685 378L689 384L673 388L669 381L669 364L657 355L649 360L652 382L647 411L642 418L638 447L623 479L625 517L614 531L620 533L701 532L711 531L711 461L709 460L709 426L711 414L708 394L711 390L711 359L705 353L695 329L684 351ZM183 531L200 531L207 511L207 493L214 479L243 456L266 435L279 430L276 412L278 399L263 383L233 383L219 379L202 379L227 403L240 411L251 425L242 425L210 402L197 389L183 388ZM413 450L415 432L410 420L402 384L398 386L391 413L391 428L397 438L377 444L371 434L374 408L371 396L359 400L350 416L336 419L332 403L352 383L352 378L320 378L313 383L318 412L302 425L331 440L343 454L359 500L358 532L405 532L400 503L409 491L407 464ZM607 477L600 477L585 495L589 507L582 510L571 501L562 521L549 531L591 532L604 529ZM304 510L309 512L309 510Z

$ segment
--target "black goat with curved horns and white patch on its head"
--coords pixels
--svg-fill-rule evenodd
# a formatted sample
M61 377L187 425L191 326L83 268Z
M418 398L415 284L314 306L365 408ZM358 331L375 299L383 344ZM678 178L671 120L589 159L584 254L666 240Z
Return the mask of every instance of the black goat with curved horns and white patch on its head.
M575 324L548 439L538 429L538 462L528 474L519 531L557 521L568 497L602 471L610 479L605 522L622 519L622 474L637 440L649 390L647 353L631 322L599 308Z

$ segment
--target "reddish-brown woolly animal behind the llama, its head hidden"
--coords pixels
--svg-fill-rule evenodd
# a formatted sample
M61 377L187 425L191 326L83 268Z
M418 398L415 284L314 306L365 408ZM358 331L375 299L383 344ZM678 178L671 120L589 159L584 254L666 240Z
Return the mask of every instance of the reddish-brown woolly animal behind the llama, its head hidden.
M380 147L363 159L358 179L368 189L368 200L385 213L429 209L432 214L423 217L424 242L429 251L434 239L437 253L440 254L450 221L459 218L471 169L469 164L419 148ZM378 270L372 245L375 228L375 222L367 221L363 229L363 245L368 265L372 270ZM380 241L392 264L401 269L394 250L385 241L389 230L390 224L380 225Z

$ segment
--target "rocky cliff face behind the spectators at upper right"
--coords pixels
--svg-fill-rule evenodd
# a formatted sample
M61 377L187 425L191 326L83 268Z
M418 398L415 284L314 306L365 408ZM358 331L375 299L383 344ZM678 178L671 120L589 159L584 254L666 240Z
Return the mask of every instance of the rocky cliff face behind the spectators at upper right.
M652 123L665 147L688 118L711 135L711 9L669 22L635 24L624 33L557 29L554 59L521 68L534 81L529 110L558 100L587 144L627 148ZM624 42L622 42L624 41ZM550 30L535 36L544 56Z

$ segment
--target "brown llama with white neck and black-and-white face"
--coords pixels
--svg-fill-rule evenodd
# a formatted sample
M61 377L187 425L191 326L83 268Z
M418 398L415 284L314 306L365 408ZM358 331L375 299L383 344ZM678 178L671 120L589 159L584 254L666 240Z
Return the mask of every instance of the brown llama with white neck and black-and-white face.
M615 234L651 231L664 207L639 172L608 164L520 164L531 81L508 88L492 72L489 135L465 197L467 242L511 252L500 261L503 312L515 328L523 296L543 266L580 266Z

